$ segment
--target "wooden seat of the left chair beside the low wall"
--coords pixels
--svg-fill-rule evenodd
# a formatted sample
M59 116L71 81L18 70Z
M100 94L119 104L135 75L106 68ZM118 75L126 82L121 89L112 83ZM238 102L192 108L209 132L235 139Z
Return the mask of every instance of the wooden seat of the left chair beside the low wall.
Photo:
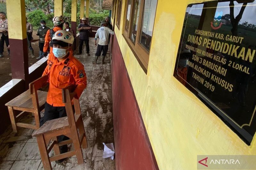
M37 90L37 96L39 107L42 107L46 101L47 92ZM18 110L19 108L19 110L33 109L30 90L28 89L26 92L23 92L16 98L12 99L8 103L6 103L5 106L17 107L15 110Z

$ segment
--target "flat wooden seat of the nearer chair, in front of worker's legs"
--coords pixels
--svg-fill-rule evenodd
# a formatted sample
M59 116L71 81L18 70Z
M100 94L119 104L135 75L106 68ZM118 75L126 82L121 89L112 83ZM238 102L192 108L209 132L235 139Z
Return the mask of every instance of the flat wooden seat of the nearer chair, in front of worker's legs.
M75 115L75 121L79 119L81 115ZM38 135L42 135L45 133L57 131L60 129L68 128L68 117L61 117L58 119L52 119L50 121L47 121L43 124L43 126L40 127L40 129L36 130L36 132L33 134L33 137L36 137Z

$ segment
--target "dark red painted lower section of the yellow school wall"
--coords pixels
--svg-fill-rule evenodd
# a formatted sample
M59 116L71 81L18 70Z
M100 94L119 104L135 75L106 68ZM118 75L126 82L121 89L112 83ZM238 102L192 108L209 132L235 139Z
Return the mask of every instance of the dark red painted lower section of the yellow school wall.
M159 169L116 35L112 41L111 75L116 169Z

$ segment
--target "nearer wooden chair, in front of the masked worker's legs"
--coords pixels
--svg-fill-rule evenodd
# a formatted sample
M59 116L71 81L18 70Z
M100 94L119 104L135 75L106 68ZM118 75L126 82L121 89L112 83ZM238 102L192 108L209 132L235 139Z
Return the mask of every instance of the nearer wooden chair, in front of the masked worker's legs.
M67 117L45 122L44 125L32 135L36 137L44 169L52 169L52 161L68 158L73 155L76 155L78 164L84 163L82 148L87 148L87 140L79 100L74 98L76 92L70 92L71 89L71 85L62 89L62 101L65 103ZM74 102L75 115L72 101ZM57 137L60 135L65 135L70 139L58 142ZM51 140L52 143L49 145L49 148L47 148ZM60 154L59 146L70 143L74 144L74 151ZM52 148L54 150L54 156L49 157Z

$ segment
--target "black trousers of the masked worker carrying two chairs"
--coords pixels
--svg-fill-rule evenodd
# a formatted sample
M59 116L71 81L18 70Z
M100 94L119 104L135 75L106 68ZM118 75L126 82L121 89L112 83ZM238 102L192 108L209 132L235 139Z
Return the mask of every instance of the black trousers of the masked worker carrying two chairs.
M42 117L41 120L40 120L40 127L46 121L61 118L61 117L65 117L65 116L67 116L67 112L66 112L66 108L64 106L54 107L52 105L49 105L47 102L45 102L45 104L44 104L44 117ZM58 138L58 142L69 139L68 137L66 137L64 135L58 136L57 138Z

